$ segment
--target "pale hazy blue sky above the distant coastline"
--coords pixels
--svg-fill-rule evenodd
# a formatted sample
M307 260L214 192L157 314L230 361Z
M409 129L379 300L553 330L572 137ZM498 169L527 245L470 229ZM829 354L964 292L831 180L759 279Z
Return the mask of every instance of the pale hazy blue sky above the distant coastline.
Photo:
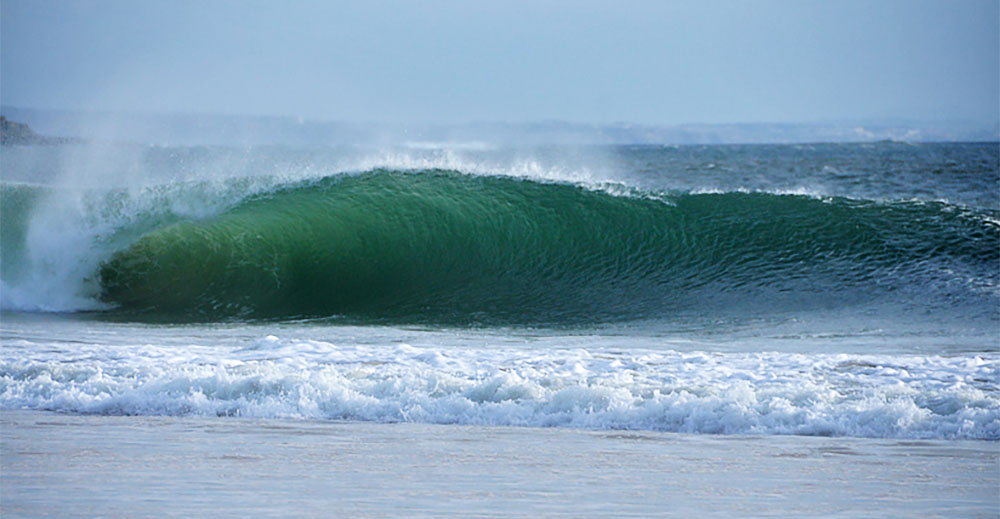
M24 108L383 122L996 121L1000 0L2 0Z

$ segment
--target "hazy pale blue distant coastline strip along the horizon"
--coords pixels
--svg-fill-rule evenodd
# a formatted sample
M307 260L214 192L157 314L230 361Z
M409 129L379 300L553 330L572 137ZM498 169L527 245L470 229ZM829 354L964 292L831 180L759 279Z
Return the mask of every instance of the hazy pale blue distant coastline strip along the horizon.
M706 145L887 142L997 142L997 121L828 121L719 124L582 123L567 121L451 124L364 123L319 119L43 110L0 106L3 143L132 142L164 146Z

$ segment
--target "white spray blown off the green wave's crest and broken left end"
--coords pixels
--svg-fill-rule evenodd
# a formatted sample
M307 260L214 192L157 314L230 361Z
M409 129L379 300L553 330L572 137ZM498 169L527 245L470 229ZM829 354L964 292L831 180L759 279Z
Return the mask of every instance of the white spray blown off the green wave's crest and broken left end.
M579 161L575 166L564 162L533 153L471 158L436 147L5 146L0 304L26 311L106 308L99 300L97 267L113 252L149 230L209 218L284 185L377 167L450 167L477 175L605 182Z

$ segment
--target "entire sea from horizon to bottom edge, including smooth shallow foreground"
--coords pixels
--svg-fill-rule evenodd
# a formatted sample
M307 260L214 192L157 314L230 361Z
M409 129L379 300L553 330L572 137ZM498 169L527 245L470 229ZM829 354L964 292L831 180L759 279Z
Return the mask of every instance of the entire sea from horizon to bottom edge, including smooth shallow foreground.
M0 178L5 517L1000 515L996 142Z

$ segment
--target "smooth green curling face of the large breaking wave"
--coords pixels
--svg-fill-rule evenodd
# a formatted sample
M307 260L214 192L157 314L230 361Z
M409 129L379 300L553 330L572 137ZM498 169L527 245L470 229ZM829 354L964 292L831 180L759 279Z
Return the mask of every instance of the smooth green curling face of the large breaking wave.
M613 196L374 171L147 233L99 280L120 312L192 320L602 321L823 307L906 287L974 298L969 279L995 298L995 218L943 203Z

